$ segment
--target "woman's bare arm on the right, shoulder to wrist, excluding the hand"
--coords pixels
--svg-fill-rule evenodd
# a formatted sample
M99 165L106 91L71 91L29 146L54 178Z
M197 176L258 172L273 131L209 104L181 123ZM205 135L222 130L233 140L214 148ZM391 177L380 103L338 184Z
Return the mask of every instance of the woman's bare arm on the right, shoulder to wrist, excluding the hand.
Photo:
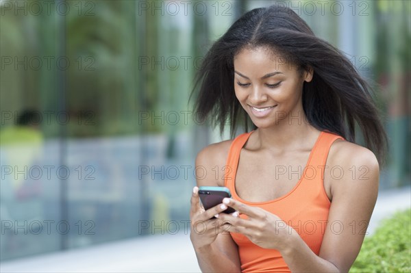
M375 155L366 148L347 142L336 146L335 156L327 165L339 165L345 174L334 180L325 172L324 179L329 179L331 185L332 205L320 254L317 257L298 235L290 236L282 255L292 272L348 272L360 252L377 200L379 166ZM352 167L357 172L350 172ZM335 222L338 229L343 226L342 231L333 232Z

